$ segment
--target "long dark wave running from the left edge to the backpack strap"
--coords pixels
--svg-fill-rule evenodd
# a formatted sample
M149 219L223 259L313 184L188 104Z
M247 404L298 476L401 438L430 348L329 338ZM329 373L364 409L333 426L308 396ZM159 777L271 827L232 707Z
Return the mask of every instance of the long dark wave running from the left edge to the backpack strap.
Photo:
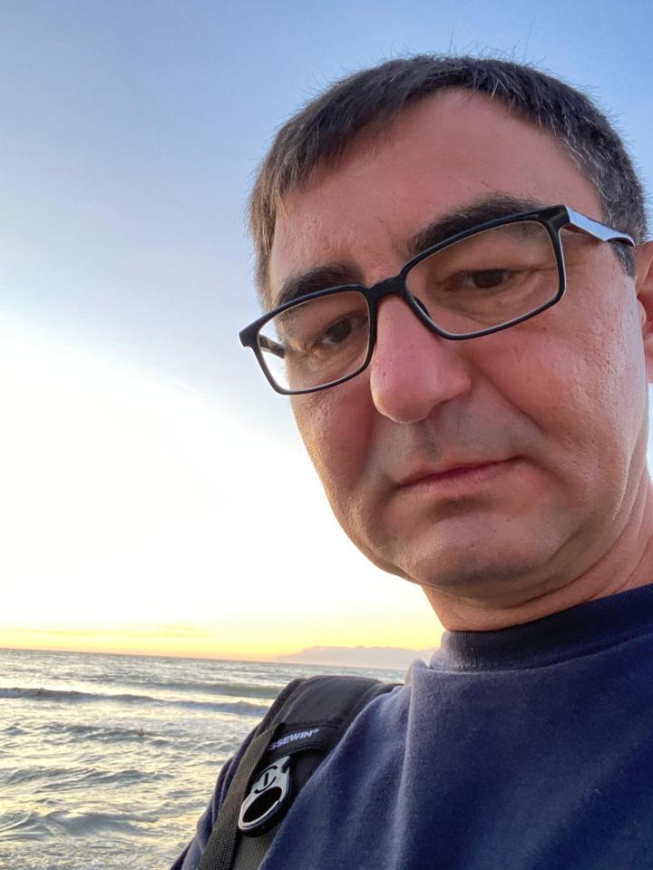
M210 710L217 713L228 713L232 716L263 716L267 704L252 704L250 701L195 701L190 699L152 698L151 695L112 694L102 692L80 692L58 689L35 689L18 686L0 688L0 699L29 699L37 701L59 701L68 704L84 704L93 702L119 704L152 704L156 706L173 706L184 709Z

